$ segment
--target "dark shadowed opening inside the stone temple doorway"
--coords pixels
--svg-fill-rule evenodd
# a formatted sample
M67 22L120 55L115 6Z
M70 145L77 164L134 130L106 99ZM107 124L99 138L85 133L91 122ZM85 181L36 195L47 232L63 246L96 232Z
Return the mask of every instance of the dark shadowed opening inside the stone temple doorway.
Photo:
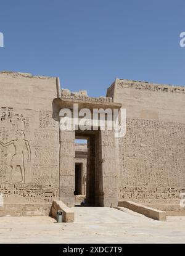
M101 163L101 138L99 131L78 131L75 139L87 140L86 154L86 184L83 184L86 191L85 206L104 206L104 193L102 184L102 163ZM83 192L80 190L84 174L80 171L80 165L75 164L75 194ZM81 181L81 183L80 183Z

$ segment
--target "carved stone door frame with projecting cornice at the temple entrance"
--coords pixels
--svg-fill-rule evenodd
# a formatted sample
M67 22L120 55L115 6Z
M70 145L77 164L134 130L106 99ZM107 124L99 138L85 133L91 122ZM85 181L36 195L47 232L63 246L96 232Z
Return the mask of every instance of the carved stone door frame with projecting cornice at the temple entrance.
M74 104L78 109L120 109L120 104L103 101L83 101L82 99L65 98L55 99L53 102L55 113L62 109L72 112ZM73 119L74 118L74 119ZM92 122L91 122L92 123ZM88 140L88 159L86 175L86 205L88 206L117 206L120 188L120 165L118 138L112 130L60 130L60 168L59 168L59 198L68 207L75 205L75 139ZM92 128L92 127L91 127ZM73 130L74 129L74 130Z

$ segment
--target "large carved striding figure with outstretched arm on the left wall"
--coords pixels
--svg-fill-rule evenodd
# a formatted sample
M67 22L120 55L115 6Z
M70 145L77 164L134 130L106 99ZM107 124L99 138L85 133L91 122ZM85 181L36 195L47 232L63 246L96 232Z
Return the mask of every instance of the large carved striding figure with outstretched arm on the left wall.
M25 155L23 154L23 150L25 146L28 151L28 162L30 162L31 160L30 144L28 140L25 139L25 133L23 131L18 130L16 131L14 140L9 141L7 143L0 141L0 144L3 147L7 147L13 144L15 147L15 154L12 156L12 159L10 161L10 167L11 167L10 178L8 181L5 181L5 182L11 182L14 176L14 173L16 171L16 168L20 167L22 180L19 182L25 183Z

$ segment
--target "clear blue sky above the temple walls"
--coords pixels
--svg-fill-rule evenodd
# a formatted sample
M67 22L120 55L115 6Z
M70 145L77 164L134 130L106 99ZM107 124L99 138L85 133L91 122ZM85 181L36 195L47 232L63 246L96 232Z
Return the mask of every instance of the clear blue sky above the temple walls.
M118 78L185 85L184 0L1 0L0 70L105 96Z

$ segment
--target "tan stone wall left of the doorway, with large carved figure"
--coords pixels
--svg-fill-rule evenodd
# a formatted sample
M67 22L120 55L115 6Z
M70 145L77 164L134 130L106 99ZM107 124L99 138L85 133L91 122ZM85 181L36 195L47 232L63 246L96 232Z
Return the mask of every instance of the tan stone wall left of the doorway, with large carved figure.
M2 72L0 90L4 214L48 214L37 205L51 207L59 196L59 128L52 118L56 78Z

